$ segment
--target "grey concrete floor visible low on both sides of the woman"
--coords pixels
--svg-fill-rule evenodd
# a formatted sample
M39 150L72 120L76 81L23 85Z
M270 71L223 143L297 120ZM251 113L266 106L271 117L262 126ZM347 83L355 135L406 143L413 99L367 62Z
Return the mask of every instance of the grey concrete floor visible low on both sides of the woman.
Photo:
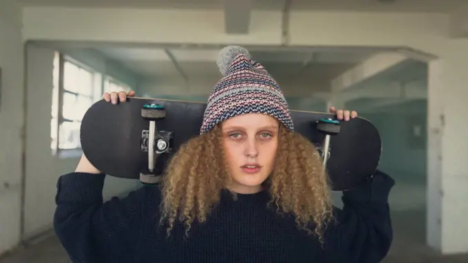
M467 263L468 254L438 255L424 244L425 211L392 213L394 242L389 255L381 263ZM67 255L53 234L36 240L26 248L17 249L0 258L0 263L69 263Z

